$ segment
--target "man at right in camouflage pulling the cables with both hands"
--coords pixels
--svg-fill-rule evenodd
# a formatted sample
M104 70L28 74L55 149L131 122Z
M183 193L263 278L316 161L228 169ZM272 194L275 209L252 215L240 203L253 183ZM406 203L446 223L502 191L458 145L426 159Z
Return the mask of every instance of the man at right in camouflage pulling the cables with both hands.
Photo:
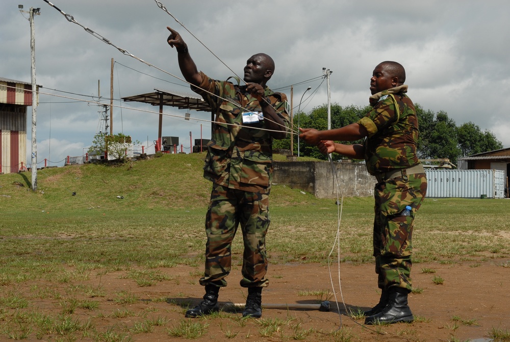
M423 166L416 155L418 119L404 85L405 70L396 62L377 65L370 79L373 109L356 123L331 130L301 129L300 138L321 152L365 159L377 179L374 189L373 245L379 303L365 312L365 324L411 322L407 305L411 292L413 222L427 190ZM333 140L364 144L344 145ZM406 206L411 215L401 215Z

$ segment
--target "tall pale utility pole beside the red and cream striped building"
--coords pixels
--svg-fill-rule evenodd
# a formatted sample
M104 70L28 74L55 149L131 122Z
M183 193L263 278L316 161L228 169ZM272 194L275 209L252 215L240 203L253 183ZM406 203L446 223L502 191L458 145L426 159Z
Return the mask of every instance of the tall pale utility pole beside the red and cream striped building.
M34 27L34 15L40 15L40 8L31 7L30 10L21 11L23 5L18 5L20 12L29 14L30 21L30 55L31 55L31 75L32 75L32 191L37 191L37 84L35 78L35 27Z

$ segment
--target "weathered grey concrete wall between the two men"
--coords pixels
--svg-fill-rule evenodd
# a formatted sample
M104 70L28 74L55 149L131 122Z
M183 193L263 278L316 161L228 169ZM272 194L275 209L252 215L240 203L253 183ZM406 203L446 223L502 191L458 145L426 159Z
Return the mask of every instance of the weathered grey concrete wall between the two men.
M273 183L310 192L317 198L336 198L329 162L273 162ZM344 197L371 197L376 183L364 164L334 163L339 190ZM340 196L340 194L339 194Z

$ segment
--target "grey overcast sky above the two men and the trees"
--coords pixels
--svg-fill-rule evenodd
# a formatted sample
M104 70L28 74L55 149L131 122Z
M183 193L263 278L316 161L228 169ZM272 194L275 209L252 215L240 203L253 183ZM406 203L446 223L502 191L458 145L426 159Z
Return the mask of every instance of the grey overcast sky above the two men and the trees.
M45 158L53 162L50 165L61 166L67 155L82 155L94 135L104 130L99 107L86 101L97 100L100 80L101 101L110 103L112 58L117 106L157 112L158 107L117 99L154 88L191 93L184 82L170 75L181 77L176 52L166 43L167 25L182 34L198 69L213 78L225 80L233 75L222 62L242 75L248 57L266 52L276 64L268 85L283 89L289 99L290 85L295 85L295 110L303 92L312 87L301 104L305 112L327 102L322 68L333 71L331 102L365 106L375 65L397 61L406 69L407 94L415 103L426 110L447 112L457 126L474 122L482 130L491 130L504 147L510 147L507 0L163 0L168 11L200 41L154 0L53 1L75 21L167 73L123 55L66 20L43 0L2 1L0 77L30 83L30 24L28 14L21 14L18 4L26 11L41 8L41 15L35 17L36 72L41 92L85 100L40 95L39 167ZM166 107L165 113L184 117L186 111ZM131 135L150 146L146 152L154 153L158 117L157 113L114 108L114 134ZM202 126L202 137L210 138L210 123L193 118L207 120L210 115L192 112L189 121L164 116L162 135L179 137L184 151L189 152L190 131L193 140L199 139ZM30 122L31 107L29 164Z

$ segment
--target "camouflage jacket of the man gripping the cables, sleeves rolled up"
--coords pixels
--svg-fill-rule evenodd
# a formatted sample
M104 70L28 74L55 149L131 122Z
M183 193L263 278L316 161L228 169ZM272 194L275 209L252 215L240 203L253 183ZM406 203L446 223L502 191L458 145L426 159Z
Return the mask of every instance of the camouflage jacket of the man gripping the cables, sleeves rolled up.
M372 95L373 109L358 121L368 131L365 162L372 175L420 164L418 118L406 92L404 85Z

